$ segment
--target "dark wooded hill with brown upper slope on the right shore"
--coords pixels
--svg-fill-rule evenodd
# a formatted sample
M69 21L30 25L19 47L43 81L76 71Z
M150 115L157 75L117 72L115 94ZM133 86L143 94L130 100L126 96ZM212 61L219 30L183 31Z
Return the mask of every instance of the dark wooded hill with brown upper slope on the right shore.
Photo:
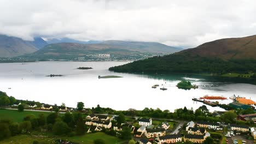
M221 75L256 71L256 35L214 40L193 49L109 68L117 72Z

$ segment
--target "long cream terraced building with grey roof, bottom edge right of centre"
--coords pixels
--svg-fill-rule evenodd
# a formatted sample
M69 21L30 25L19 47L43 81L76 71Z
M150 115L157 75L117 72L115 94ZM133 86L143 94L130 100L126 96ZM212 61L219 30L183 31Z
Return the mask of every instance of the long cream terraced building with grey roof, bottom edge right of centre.
M156 139L159 141L160 144L182 142L182 136L179 134L159 136Z

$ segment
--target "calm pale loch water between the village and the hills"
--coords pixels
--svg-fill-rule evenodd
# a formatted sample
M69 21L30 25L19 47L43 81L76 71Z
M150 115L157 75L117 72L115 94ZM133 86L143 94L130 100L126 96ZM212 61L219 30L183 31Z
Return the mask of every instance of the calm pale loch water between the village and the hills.
M184 75L138 75L114 73L109 67L127 62L37 62L37 63L0 63L0 91L7 92L16 99L35 100L42 103L65 103L75 107L83 101L85 107L111 107L115 110L144 107L174 111L187 106L197 109L202 103L194 103L192 98L203 95L233 94L256 100L256 86L245 83L227 83L210 81ZM92 67L90 70L79 70L78 67ZM46 77L50 74L65 75ZM98 79L98 75L123 76L117 79ZM190 80L199 85L198 89L185 91L175 85L181 80ZM161 91L153 85L163 84L167 91ZM11 89L8 89L11 88ZM231 100L220 103L228 104ZM207 106L211 111L222 110L219 107Z

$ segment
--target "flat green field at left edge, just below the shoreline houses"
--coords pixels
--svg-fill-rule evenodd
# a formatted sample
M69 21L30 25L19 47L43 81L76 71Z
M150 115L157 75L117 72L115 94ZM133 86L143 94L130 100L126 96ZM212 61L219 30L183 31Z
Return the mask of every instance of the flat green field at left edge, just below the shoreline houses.
M28 114L33 114L36 117L40 113L44 113L45 116L48 116L50 112L41 112L41 111L23 111L19 112L18 110L5 110L0 109L0 118L1 119L11 119L13 122L22 122L23 118Z

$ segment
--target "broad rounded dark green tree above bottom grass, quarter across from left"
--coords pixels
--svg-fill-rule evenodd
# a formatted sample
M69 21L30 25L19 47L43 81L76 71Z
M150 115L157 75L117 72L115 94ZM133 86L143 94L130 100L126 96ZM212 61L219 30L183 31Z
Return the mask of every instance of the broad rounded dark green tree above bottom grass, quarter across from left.
M56 122L53 125L53 133L55 135L68 134L69 132L70 132L70 129L68 128L68 125L65 122Z

